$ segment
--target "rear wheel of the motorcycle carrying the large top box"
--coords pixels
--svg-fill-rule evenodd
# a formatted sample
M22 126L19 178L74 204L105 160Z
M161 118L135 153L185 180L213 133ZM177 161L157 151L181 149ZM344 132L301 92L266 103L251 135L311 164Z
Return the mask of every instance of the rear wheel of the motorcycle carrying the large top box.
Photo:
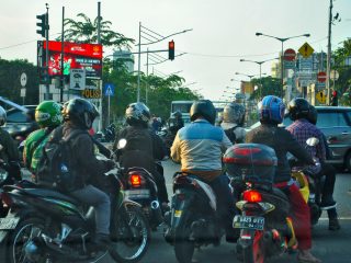
M264 263L263 231L254 231L251 245L242 248L244 263Z

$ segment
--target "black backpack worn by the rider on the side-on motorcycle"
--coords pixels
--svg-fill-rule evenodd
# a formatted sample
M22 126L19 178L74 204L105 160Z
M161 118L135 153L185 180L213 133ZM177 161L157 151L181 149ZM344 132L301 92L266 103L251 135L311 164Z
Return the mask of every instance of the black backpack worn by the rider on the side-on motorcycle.
M70 140L83 130L72 130L63 138L63 126L54 129L50 138L43 147L43 155L36 168L36 182L59 192L76 190L77 161L72 155Z

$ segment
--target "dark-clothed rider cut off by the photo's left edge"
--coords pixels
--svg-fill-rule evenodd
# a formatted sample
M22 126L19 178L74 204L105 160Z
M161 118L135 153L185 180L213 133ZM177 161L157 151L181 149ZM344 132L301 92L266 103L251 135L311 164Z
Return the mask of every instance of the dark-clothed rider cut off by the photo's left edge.
M9 172L14 178L21 178L19 170L20 155L18 147L11 135L1 128L7 123L7 112L0 106L0 162L9 165Z

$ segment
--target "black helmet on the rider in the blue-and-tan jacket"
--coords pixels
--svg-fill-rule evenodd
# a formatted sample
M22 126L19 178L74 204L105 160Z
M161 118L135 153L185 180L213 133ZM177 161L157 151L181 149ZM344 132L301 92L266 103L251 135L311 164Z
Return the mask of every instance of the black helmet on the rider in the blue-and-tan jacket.
M197 117L207 119L212 125L216 121L216 108L208 100L195 101L190 108L190 119L194 122Z

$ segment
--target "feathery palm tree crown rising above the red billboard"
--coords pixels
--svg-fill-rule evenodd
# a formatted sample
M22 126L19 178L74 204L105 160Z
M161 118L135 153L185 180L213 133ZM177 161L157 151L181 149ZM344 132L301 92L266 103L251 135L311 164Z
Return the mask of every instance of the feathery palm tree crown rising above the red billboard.
M77 43L97 43L98 42L98 16L92 22L86 14L77 14L82 21L72 19L65 20L65 39ZM110 21L102 21L101 19L101 44L103 46L113 47L129 47L134 43L133 38L125 37L123 34L111 30L112 23ZM58 37L57 39L60 39Z

